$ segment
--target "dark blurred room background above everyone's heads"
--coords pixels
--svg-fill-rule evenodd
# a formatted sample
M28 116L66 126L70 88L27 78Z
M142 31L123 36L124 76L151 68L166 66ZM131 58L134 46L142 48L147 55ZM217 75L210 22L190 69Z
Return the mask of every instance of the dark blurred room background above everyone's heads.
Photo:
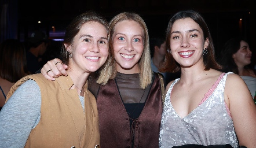
M175 12L193 9L209 25L216 56L229 38L242 35L249 41L252 64L256 64L255 0L1 0L0 4L0 42L6 38L23 41L35 29L45 31L49 39L61 40L72 18L88 10L108 20L120 12L138 13L148 26L149 37L163 36Z

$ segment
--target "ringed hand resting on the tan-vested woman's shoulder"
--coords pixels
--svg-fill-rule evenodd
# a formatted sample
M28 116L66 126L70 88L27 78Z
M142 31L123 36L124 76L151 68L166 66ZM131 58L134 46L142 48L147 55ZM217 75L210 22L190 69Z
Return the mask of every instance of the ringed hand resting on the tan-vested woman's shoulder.
M47 61L47 63L43 65L41 73L46 79L54 81L56 77L61 75L67 76L68 73L65 70L67 68L68 66L63 64L60 59L54 58L53 60Z

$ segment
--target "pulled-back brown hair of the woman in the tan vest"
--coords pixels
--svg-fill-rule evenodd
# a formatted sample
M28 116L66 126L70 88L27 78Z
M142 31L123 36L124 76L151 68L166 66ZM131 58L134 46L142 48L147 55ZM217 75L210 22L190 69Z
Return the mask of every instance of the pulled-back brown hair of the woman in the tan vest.
M108 25L108 21L105 20L105 18L101 17L99 14L95 12L86 12L86 13L79 14L71 21L70 24L68 24L65 30L65 36L64 36L63 43L61 45L61 53L60 53L60 58L64 62L64 64L68 65L69 59L70 59L68 57L69 53L64 44L72 45L72 43L74 42L75 36L80 31L83 24L86 24L88 22L97 22L102 24L105 27L108 38L109 38L109 25ZM103 68L105 65L108 65L108 63L109 63L109 58L107 58L107 61L103 66L101 66L101 68Z

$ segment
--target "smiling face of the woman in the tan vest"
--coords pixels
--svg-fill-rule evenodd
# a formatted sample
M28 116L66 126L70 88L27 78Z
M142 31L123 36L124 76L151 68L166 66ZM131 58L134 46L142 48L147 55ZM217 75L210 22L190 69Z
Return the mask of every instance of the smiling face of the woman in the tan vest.
M89 21L82 25L72 45L65 45L72 53L69 67L81 72L97 71L108 57L108 36L105 27Z

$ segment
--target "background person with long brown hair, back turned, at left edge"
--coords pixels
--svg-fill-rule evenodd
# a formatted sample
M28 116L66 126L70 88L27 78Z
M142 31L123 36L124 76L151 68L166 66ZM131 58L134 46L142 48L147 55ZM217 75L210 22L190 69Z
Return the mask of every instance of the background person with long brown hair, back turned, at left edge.
M10 88L21 77L28 75L25 47L17 39L0 43L0 110Z

